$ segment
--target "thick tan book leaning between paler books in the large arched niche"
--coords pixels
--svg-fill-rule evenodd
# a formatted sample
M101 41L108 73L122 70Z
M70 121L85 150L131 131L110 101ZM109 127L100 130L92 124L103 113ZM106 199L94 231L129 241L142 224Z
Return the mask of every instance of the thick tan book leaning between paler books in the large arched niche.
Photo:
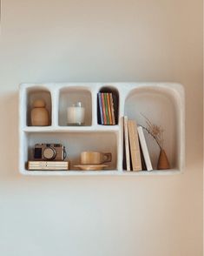
M137 125L134 120L128 120L128 137L133 171L141 171L141 151Z

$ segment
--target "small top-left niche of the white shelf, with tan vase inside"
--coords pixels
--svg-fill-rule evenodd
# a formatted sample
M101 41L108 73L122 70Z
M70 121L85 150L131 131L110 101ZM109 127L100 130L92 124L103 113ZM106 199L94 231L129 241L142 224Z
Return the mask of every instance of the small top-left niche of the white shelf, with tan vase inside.
M49 88L43 84L22 84L23 126L52 125L52 98Z

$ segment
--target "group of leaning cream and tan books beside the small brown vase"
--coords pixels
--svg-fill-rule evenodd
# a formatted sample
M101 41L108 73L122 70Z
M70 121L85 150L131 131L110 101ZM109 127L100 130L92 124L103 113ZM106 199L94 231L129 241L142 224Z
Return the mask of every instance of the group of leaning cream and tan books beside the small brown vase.
M135 120L124 117L124 169L127 171L152 171L152 163L143 128Z

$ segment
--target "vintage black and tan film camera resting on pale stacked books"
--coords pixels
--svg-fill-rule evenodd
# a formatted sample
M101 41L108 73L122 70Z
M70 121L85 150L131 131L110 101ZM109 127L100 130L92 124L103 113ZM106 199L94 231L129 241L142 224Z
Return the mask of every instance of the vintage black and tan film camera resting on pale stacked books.
M38 161L63 161L67 156L61 144L36 144L34 159Z

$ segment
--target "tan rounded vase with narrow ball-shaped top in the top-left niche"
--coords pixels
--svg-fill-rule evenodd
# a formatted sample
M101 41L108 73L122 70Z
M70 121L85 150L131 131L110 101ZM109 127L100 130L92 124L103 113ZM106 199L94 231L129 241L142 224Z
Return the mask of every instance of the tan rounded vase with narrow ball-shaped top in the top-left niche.
M32 126L48 126L49 125L49 111L45 108L43 99L37 99L33 104L31 111L31 125Z

